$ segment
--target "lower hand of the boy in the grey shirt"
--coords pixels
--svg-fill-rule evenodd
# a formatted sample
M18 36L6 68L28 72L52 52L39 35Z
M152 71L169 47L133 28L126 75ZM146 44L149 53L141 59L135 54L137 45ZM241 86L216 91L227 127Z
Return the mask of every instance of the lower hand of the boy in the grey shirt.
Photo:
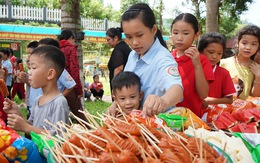
M16 114L8 114L8 127L14 130L23 131L26 128L27 122L25 119Z

